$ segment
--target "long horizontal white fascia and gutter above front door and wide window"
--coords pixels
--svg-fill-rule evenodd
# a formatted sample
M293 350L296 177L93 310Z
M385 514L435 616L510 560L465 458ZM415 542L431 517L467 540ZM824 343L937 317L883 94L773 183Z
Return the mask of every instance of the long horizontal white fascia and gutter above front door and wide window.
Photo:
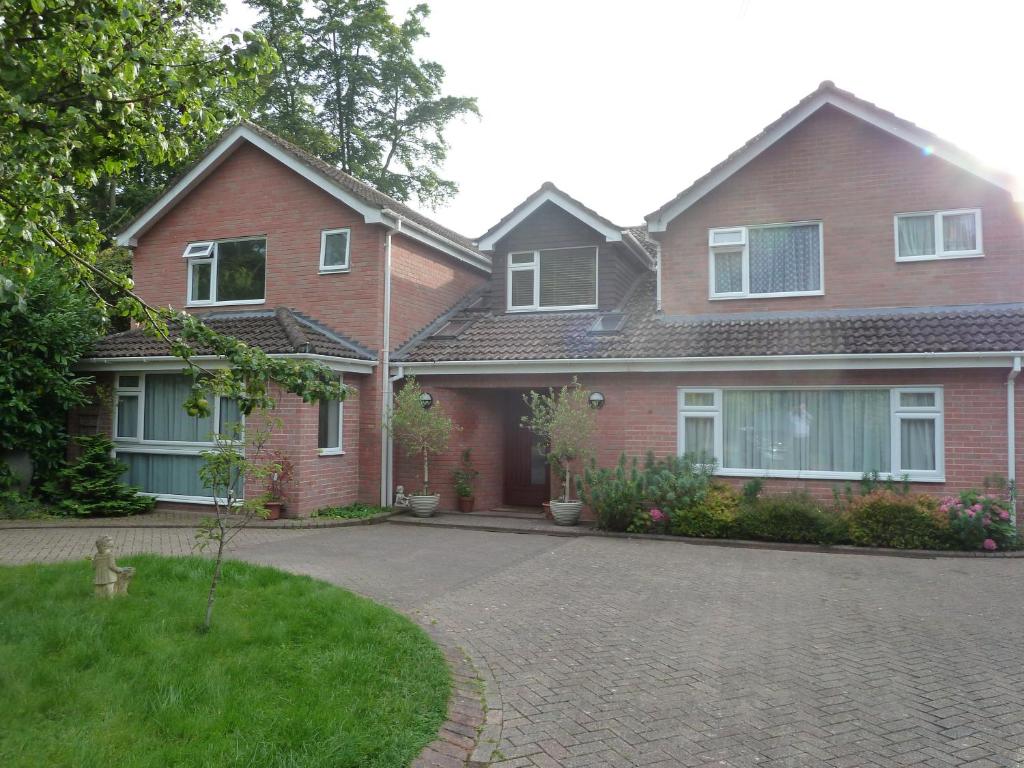
M742 357L649 357L563 360L438 360L403 362L407 375L689 373L702 371L865 371L1010 368L1021 352L931 354L794 354Z

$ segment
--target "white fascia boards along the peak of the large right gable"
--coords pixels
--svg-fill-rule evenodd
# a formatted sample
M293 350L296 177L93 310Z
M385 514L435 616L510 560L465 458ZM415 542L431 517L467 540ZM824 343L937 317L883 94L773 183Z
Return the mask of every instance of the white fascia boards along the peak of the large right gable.
M825 104L831 104L833 106L836 106L837 109L840 109L855 118L859 118L865 123L869 123L877 128L881 128L887 133L890 133L897 138L901 138L914 146L919 146L922 150L927 148L929 153L935 157L942 158L943 160L964 169L968 173L983 178L984 180L1004 189L1008 189L1012 195L1016 196L1019 194L1019 190L1013 184L1007 183L1006 178L999 176L998 174L991 173L988 169L980 167L977 161L967 155L967 153L958 152L955 147L934 145L932 143L934 136L930 135L926 131L914 129L899 120L888 119L884 115L879 115L874 110L867 109L863 104L857 103L856 101L846 98L840 94L822 93L794 111L792 115L778 123L763 138L758 140L756 144L749 146L727 164L722 166L722 168L718 169L711 176L694 186L686 195L675 201L666 211L655 215L653 218L648 219L648 231L664 232L672 220L679 216L679 214L690 208L730 176L746 166L748 163L760 156L763 152L770 148L776 141L781 139L790 131L803 123L807 120L807 118Z

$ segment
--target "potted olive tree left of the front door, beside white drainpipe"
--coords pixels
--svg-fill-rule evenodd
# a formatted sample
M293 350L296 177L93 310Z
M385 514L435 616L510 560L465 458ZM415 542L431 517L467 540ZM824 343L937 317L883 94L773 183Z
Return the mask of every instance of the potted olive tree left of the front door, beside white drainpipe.
M387 427L407 456L423 461L423 487L410 494L409 506L417 517L430 517L440 504L440 495L430 493L430 457L447 449L456 427L447 414L422 395L416 379L408 378L394 396Z

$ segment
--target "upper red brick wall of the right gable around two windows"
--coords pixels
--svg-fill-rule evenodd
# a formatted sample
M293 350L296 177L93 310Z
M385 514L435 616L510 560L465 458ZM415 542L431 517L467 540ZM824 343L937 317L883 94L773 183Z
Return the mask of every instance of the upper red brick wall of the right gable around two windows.
M896 263L893 215L981 208L984 258ZM821 220L824 296L708 298L708 229ZM663 242L667 314L1019 301L1024 226L1006 190L824 108L678 216Z

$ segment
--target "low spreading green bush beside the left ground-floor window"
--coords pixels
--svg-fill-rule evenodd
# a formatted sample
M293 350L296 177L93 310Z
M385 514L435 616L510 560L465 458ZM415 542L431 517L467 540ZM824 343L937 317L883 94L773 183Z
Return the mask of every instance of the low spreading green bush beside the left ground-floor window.
M114 443L103 435L77 437L82 455L45 484L54 508L79 517L122 517L148 512L156 503L121 482L127 467L114 458Z

